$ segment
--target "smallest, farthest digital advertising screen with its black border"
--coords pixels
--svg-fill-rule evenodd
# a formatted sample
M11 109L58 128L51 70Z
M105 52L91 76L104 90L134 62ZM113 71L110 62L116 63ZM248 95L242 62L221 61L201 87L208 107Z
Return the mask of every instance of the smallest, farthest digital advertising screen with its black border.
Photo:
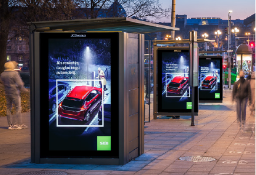
M222 101L222 56L200 56L198 77L199 100Z

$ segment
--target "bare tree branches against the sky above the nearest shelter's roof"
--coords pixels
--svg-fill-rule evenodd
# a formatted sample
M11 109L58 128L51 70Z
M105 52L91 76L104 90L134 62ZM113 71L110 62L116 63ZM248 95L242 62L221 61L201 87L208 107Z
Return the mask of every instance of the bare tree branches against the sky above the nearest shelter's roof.
M99 13L105 16L120 17L127 16L135 19L160 19L168 17L170 8L162 8L159 0L78 0L78 6L85 10L86 18L97 18ZM125 11L121 11L122 5ZM115 11L113 11L113 8ZM109 15L110 13L110 15Z

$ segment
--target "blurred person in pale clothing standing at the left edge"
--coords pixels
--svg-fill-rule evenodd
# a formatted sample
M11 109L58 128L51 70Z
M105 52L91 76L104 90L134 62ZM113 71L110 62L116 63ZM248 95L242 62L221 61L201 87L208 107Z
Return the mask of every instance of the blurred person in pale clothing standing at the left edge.
M1 73L2 84L4 84L6 98L6 115L8 129L28 128L24 125L21 117L21 96L20 90L27 91L19 73L14 70L15 65L12 61L8 61L4 65L5 70ZM12 105L15 105L15 115L11 115ZM16 120L18 122L16 122Z

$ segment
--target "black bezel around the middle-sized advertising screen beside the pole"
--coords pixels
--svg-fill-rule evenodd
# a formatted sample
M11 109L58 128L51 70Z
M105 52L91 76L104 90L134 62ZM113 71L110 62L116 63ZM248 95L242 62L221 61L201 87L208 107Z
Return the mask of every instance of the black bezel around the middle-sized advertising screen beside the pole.
M182 50L182 52L189 53L189 47L172 47L172 48L165 48L165 49L158 49L157 50L157 94L162 94L162 53L163 52L174 52L174 50ZM189 65L190 69L191 65ZM194 87L194 111L198 112L198 88ZM188 112L192 112L192 109L162 109L162 96L158 95L157 98L157 110L158 112L178 112L179 114L187 114Z

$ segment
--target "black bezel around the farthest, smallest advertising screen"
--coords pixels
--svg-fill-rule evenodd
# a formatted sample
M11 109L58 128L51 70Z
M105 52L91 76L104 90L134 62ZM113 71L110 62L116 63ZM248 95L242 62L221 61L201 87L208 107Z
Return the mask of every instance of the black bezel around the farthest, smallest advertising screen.
M207 60L207 59L211 59L211 60L220 60L220 97L221 98L200 98L200 90L198 90L198 98L200 101L204 101L204 102L220 102L223 101L223 58L222 56L199 56L199 66L200 66L200 60ZM198 74L200 74L200 71L198 70Z

